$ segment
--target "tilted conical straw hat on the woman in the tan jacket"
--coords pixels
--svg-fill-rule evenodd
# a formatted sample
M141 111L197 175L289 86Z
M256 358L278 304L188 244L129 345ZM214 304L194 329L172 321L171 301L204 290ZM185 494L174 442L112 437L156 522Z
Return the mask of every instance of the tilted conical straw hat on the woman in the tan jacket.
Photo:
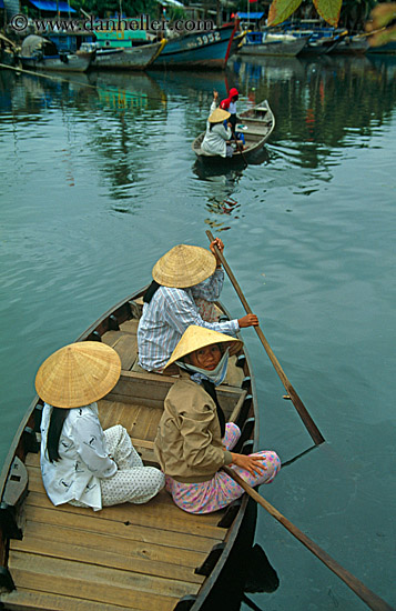
M191 324L184 331L164 369L166 370L167 367L173 364L175 361L180 361L183 357L190 354L190 352L194 352L194 350L200 350L200 348L211 345L212 343L223 343L225 348L230 348L230 354L235 354L243 345L241 340L232 338L231 335L225 335L224 333L219 333L219 331L212 331L212 329L205 329L204 327Z

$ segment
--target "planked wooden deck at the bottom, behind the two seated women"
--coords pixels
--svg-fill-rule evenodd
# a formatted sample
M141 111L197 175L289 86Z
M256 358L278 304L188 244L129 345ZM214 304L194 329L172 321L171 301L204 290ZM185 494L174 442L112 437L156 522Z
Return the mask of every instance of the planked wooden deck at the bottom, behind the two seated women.
M124 503L100 512L54 508L42 484L39 455L28 454L26 465L23 539L11 540L9 552L17 590L2 595L7 608L167 611L199 591L204 577L195 569L226 534L216 525L223 512L186 514L165 491L143 505Z

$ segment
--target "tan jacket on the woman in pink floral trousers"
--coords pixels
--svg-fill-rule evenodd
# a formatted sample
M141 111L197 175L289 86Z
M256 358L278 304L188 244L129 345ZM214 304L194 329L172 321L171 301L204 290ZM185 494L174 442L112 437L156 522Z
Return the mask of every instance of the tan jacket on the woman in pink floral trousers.
M164 473L183 483L211 480L232 462L213 399L184 372L165 398L154 451Z

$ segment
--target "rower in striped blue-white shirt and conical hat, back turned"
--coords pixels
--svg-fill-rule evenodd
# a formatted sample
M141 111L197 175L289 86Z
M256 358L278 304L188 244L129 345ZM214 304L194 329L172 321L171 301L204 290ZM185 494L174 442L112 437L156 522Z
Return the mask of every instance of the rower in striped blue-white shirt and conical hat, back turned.
M258 324L255 314L219 322L213 304L219 300L224 271L214 247L211 251L179 244L166 252L152 270L153 282L143 297L143 313L138 327L138 367L162 372L184 331L197 324L235 335L240 329Z

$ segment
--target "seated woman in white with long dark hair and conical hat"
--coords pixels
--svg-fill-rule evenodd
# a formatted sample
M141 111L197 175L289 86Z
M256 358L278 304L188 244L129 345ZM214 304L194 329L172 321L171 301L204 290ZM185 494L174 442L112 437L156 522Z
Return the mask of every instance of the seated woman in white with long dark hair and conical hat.
M92 508L145 503L164 487L163 473L144 467L126 430L103 431L97 401L115 385L120 357L109 345L82 341L61 348L40 367L35 390L44 401L41 473L54 505Z

